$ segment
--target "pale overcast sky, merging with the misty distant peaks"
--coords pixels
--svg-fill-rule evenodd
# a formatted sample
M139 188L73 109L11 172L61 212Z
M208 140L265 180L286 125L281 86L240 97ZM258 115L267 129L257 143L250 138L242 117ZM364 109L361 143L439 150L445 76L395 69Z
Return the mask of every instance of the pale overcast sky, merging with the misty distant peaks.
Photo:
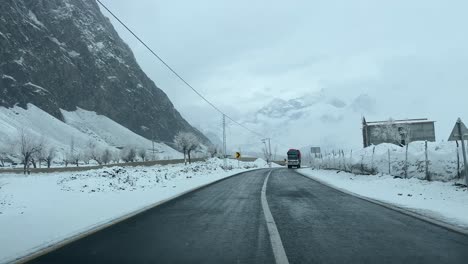
M362 115L436 120L438 141L457 117L468 122L467 1L102 1L209 100L283 147L359 147ZM219 135L220 116L111 21L182 115ZM254 118L275 98L317 96L339 107ZM234 125L228 136L232 148L259 142Z

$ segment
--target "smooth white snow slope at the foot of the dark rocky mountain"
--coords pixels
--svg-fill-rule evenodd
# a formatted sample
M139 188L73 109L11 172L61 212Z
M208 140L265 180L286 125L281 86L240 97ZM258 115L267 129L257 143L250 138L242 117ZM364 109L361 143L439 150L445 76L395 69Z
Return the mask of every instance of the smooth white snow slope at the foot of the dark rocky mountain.
M65 122L51 116L33 104L27 109L15 106L0 107L0 154L17 152L14 149L21 129L32 138L44 140L47 147L54 147L60 159L70 148L71 141L77 151L83 150L90 142L99 149L108 148L118 152L117 147L152 149L152 142L137 135L106 116L78 108L68 112L62 110ZM155 143L155 151L160 159L179 159L183 155L163 143ZM62 154L62 155L60 155Z

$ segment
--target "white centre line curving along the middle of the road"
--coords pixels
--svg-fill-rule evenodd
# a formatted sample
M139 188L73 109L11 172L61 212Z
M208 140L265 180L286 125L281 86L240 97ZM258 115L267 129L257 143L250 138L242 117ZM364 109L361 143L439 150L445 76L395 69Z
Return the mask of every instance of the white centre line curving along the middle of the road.
M263 213L265 214L268 233L270 234L271 247L273 249L273 254L275 255L276 263L289 264L288 257L286 256L286 252L284 251L283 242L281 242L281 237L279 235L278 228L276 228L275 220L273 219L273 215L271 215L270 207L268 206L268 201L266 199L266 184L268 182L268 178L270 178L271 172L272 171L268 173L262 187L262 209Z

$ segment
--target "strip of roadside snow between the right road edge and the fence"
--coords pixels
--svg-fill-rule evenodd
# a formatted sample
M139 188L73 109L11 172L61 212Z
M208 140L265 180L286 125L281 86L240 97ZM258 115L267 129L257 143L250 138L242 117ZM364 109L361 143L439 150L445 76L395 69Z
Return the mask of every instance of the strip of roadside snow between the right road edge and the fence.
M468 191L454 182L428 182L390 175L354 175L335 170L298 170L312 179L361 196L468 229Z

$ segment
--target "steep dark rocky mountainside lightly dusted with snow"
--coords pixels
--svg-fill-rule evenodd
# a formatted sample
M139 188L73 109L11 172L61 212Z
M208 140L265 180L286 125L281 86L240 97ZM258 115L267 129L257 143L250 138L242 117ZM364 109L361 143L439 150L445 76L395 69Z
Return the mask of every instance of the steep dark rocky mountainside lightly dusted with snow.
M28 103L105 115L172 142L178 131L209 140L182 118L137 64L94 0L4 0L0 5L0 106Z

